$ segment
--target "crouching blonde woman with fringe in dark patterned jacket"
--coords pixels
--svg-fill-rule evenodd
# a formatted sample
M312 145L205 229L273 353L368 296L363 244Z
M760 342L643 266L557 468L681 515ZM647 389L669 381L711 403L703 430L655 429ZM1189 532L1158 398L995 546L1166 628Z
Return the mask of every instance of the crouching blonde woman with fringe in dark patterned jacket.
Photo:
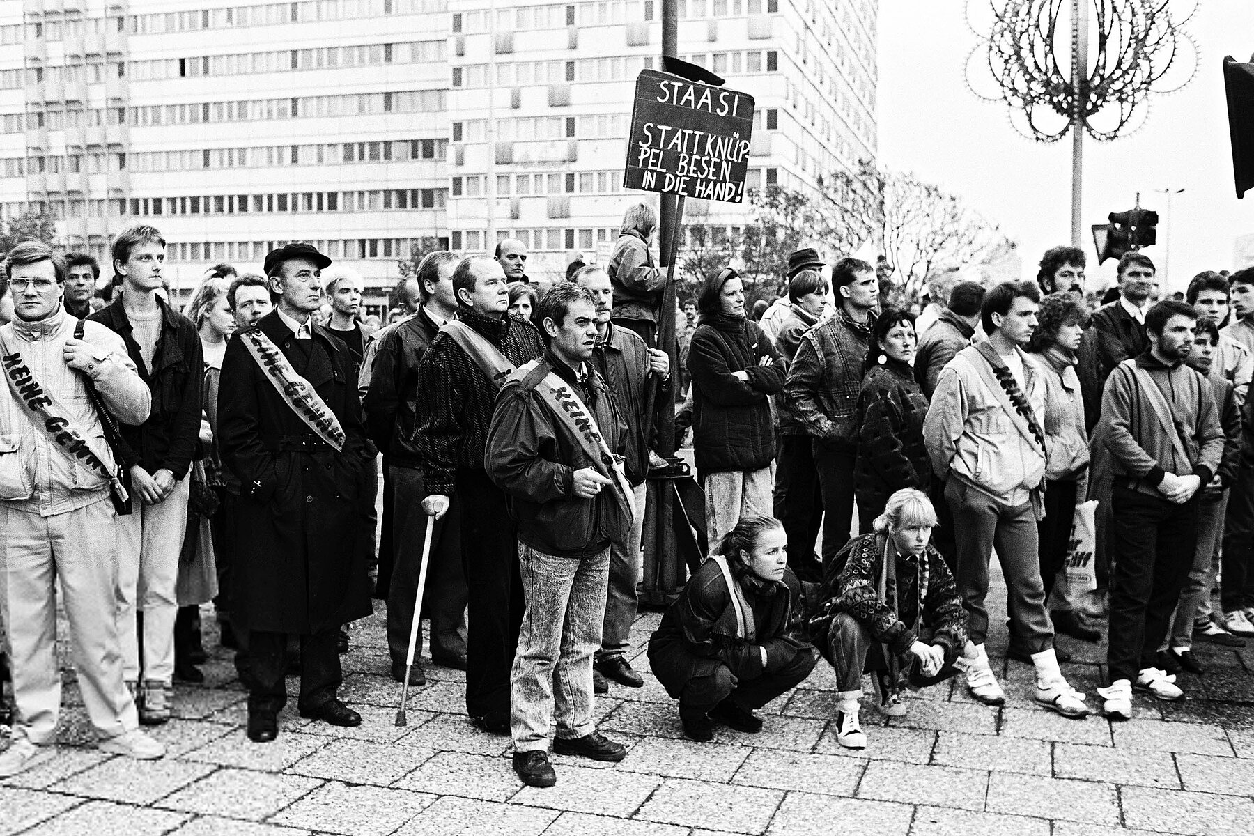
M953 575L929 544L935 524L927 494L904 488L823 580L808 628L836 672L836 742L845 748L867 747L858 722L864 672L874 674L880 713L900 717L903 681L934 684L953 676L961 657L976 658Z

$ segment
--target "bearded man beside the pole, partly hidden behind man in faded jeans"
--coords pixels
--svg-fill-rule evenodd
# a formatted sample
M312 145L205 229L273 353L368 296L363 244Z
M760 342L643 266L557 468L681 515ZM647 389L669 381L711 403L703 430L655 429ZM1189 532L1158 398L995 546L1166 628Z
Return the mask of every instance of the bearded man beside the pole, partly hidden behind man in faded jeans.
M623 544L609 549L609 585L606 600L604 629L596 653L594 684L598 693L608 691L606 678L628 688L645 684L624 656L630 647L628 632L636 620L636 584L640 582L643 555L641 534L645 526L645 499L648 476L648 427L645 412L651 386L662 385L658 400L668 402L670 357L665 351L650 348L645 341L611 321L614 288L604 267L584 267L573 277L574 283L592 293L597 303L597 345L591 363L609 389L618 412L627 422L623 434L623 466L632 485L636 516Z

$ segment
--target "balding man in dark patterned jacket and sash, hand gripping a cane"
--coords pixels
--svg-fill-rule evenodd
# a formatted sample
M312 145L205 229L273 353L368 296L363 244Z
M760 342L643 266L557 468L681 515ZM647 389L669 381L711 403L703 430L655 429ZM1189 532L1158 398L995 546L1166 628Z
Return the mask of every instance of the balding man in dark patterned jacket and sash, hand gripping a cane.
M414 446L435 518L461 501L461 568L466 578L466 713L487 732L509 733L509 669L518 647L523 590L517 528L505 495L484 471L484 442L500 386L544 353L530 322L505 316L509 288L500 264L468 256L453 272L458 318L423 356Z

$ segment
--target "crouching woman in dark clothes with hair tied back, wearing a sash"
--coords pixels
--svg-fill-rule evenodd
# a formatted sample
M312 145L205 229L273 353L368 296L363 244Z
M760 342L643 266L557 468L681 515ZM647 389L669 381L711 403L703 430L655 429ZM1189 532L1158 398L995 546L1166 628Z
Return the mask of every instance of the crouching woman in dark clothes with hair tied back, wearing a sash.
M688 579L648 642L648 662L680 701L683 733L714 736L714 721L761 731L754 714L810 676L818 651L789 634L800 584L772 516L744 516Z

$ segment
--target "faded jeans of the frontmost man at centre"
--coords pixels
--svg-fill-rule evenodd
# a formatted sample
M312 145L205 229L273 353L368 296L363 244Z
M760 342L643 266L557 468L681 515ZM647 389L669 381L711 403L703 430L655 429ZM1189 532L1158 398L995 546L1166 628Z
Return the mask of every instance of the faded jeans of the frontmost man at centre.
M609 549L576 559L519 543L518 562L527 609L509 677L509 729L514 751L543 752L554 713L558 737L594 728L592 654L601 647Z

